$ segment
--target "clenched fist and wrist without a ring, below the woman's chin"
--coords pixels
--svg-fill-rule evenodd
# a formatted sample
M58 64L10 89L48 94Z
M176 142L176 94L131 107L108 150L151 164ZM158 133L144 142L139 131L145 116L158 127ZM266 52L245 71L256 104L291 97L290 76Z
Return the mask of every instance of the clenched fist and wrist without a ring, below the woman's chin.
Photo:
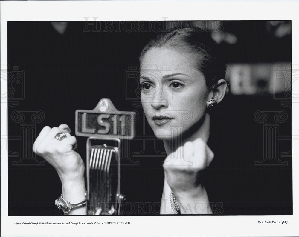
M165 178L179 202L192 207L198 202L208 202L207 193L202 186L199 173L208 167L214 154L200 138L188 141L164 161ZM193 210L194 211L194 210ZM207 210L206 213L209 213ZM190 213L189 213L190 214Z

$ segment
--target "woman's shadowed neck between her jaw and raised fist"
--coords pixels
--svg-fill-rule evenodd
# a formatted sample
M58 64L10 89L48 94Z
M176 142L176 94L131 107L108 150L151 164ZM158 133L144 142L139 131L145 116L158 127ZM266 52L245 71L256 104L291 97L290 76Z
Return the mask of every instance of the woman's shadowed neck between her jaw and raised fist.
M177 136L173 139L163 140L164 148L167 156L174 152L180 146L183 146L187 141L194 141L197 138L201 138L207 143L210 135L210 115L208 113L190 129L185 131L182 135Z

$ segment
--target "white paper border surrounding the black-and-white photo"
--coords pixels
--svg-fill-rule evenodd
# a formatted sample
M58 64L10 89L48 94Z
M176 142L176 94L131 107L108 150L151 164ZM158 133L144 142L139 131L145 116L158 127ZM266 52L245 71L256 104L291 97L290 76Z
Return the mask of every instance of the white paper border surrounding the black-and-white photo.
M291 20L292 64L299 70L299 16L294 1L1 1L1 70L7 65L8 21L103 20ZM299 84L293 81L294 95ZM1 82L1 93L7 85ZM16 225L14 222L60 222L63 216L8 216L7 101L1 101L1 236L298 236L299 103L292 103L293 215L271 216L288 224L260 225L269 216L103 216L97 221L129 225ZM296 123L297 121L297 123ZM297 138L297 139L295 139ZM69 216L71 222L96 221Z

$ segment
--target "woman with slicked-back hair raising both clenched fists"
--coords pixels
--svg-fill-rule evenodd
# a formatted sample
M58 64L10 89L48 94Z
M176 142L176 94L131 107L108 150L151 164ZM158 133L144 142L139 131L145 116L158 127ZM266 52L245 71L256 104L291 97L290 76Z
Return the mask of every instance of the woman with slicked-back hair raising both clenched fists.
M201 173L213 159L206 145L209 109L225 95L226 67L217 44L199 32L191 28L163 32L140 55L142 106L167 153L160 214L212 214ZM80 202L85 199L85 167L74 151L76 138L70 132L66 124L44 127L33 151L57 170L62 182L60 201L78 204L66 214L84 215ZM66 138L57 137L58 133Z

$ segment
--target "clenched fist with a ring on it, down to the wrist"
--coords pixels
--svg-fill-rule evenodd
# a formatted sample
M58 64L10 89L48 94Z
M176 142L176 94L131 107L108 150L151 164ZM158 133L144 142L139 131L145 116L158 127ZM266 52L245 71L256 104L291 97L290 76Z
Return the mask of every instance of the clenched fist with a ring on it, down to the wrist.
M68 125L59 127L44 127L33 144L33 152L44 158L57 171L61 181L68 181L84 176L84 163L74 149L77 139L70 134ZM55 138L57 133L65 133L66 138L59 141Z

